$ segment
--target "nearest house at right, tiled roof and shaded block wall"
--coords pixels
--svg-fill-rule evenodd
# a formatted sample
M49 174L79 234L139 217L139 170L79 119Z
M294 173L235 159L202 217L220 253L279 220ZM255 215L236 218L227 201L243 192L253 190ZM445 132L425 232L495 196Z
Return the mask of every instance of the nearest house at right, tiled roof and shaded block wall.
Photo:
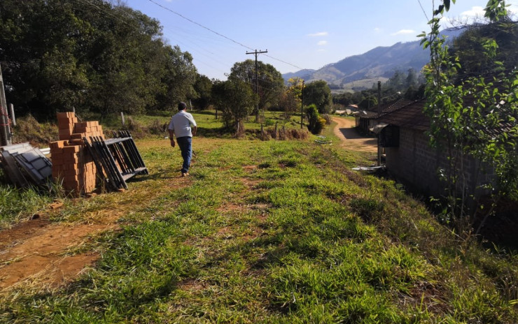
M444 193L444 184L437 170L446 168L447 154L429 145L426 131L430 130L430 120L423 114L425 100L412 101L405 105L388 108L379 114L379 145L384 147L386 168L391 175L426 196ZM479 189L483 182L491 181L489 176L480 177L479 163L470 157L463 159L466 190L482 194ZM479 177L477 177L479 175Z

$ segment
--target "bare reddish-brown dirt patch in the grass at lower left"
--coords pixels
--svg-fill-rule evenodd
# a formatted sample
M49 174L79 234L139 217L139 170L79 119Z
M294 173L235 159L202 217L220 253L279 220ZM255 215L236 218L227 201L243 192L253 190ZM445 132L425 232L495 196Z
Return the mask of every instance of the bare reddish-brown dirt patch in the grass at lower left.
M71 249L84 246L94 235L118 228L115 223L119 216L113 213L87 223L61 224L51 223L42 213L37 219L2 230L0 291L20 282L58 286L75 278L99 256L91 251L74 254Z

